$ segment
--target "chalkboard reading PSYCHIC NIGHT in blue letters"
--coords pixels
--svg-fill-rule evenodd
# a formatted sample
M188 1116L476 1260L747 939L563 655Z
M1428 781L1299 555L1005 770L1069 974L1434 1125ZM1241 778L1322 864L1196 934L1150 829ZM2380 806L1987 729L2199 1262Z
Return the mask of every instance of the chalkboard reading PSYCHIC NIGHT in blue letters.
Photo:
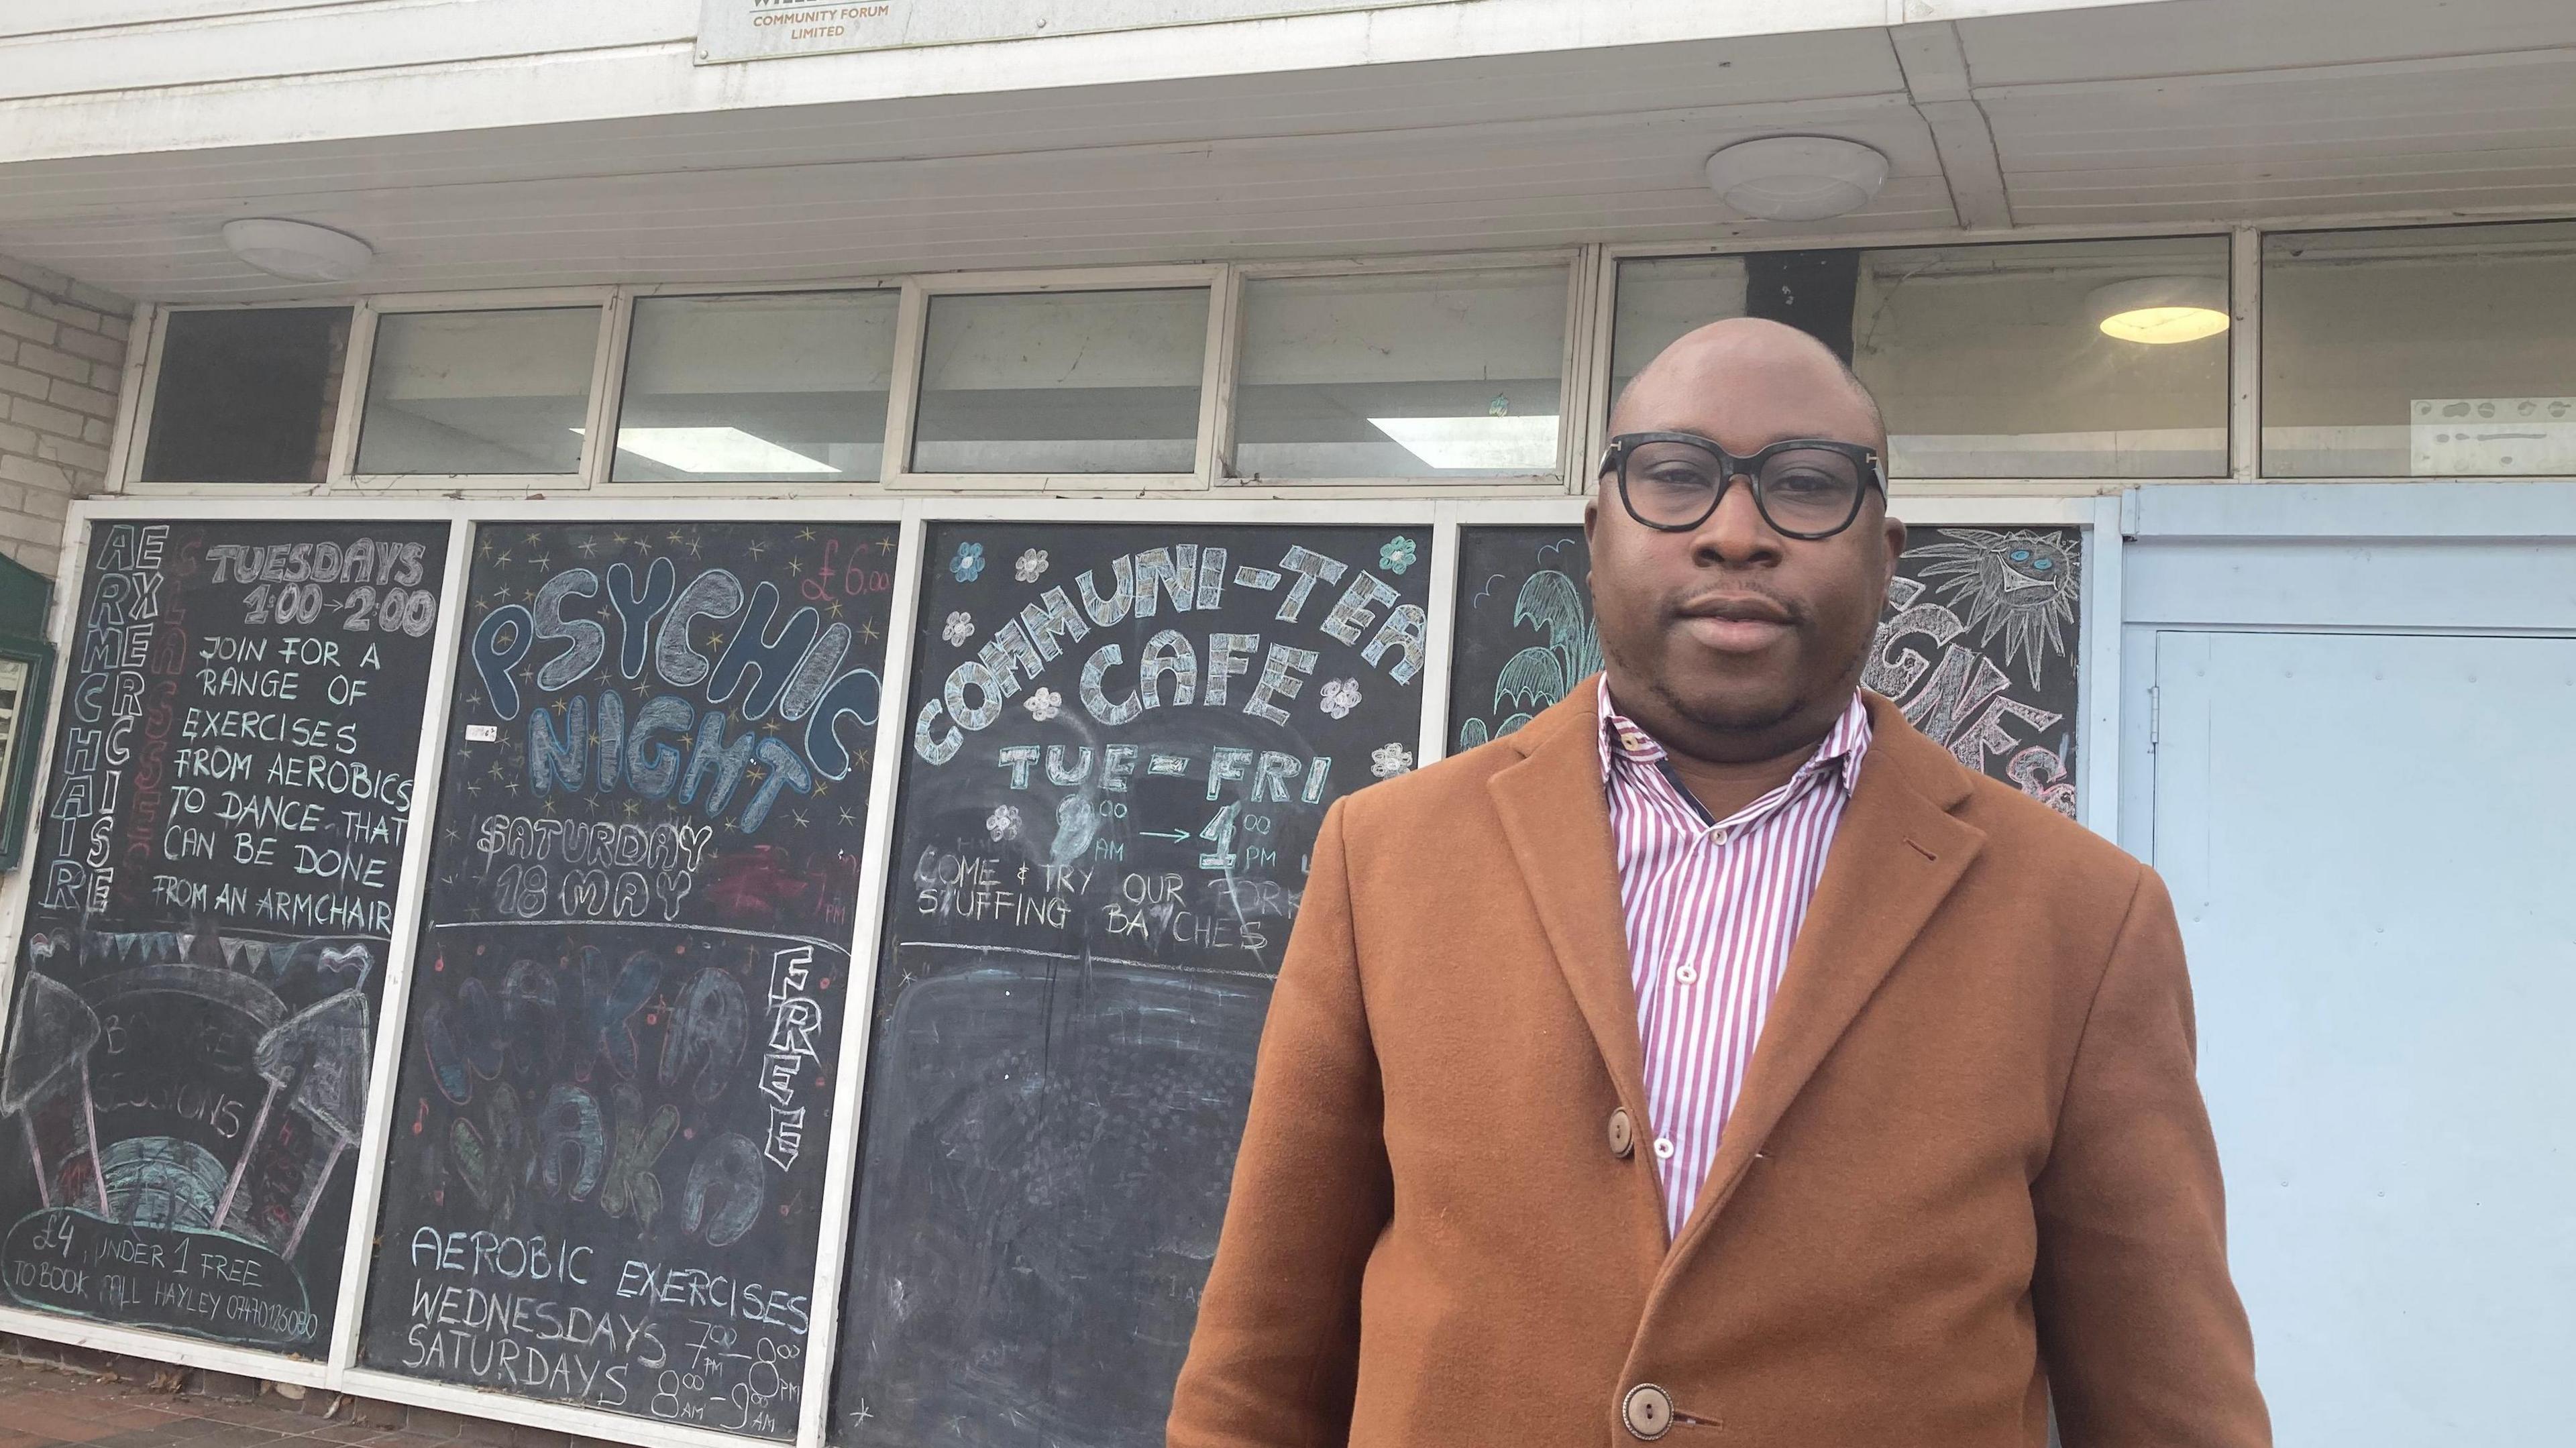
M477 533L366 1366L793 1435L894 544Z

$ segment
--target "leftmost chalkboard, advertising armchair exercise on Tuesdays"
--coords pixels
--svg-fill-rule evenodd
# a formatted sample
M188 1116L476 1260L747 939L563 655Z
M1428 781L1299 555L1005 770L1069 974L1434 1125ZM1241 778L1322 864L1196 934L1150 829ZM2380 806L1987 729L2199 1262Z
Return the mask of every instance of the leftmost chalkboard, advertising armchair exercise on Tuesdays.
M0 1064L10 1304L330 1348L446 544L90 526Z

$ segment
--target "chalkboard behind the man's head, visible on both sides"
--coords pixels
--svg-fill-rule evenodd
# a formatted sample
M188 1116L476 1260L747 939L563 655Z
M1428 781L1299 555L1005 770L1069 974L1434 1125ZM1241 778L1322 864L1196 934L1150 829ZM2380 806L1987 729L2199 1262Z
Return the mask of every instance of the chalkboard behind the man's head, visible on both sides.
M1971 770L2076 812L2081 528L1914 528L1865 688ZM1602 667L1582 528L1461 528L1450 750L1510 734Z

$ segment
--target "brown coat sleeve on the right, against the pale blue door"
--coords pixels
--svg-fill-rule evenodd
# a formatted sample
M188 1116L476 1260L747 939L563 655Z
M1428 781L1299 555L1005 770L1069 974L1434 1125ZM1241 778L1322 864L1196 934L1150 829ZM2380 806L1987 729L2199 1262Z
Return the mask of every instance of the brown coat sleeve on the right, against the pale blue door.
M2228 1281L2174 902L2141 868L2032 1183L2032 1309L2066 1448L2264 1448Z

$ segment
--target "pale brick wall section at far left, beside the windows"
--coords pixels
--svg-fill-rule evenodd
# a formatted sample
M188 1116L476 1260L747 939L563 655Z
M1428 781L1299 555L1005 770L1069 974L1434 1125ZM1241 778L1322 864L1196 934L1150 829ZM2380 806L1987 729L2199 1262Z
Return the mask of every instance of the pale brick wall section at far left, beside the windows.
M0 258L0 554L52 575L62 513L108 477L124 296Z

